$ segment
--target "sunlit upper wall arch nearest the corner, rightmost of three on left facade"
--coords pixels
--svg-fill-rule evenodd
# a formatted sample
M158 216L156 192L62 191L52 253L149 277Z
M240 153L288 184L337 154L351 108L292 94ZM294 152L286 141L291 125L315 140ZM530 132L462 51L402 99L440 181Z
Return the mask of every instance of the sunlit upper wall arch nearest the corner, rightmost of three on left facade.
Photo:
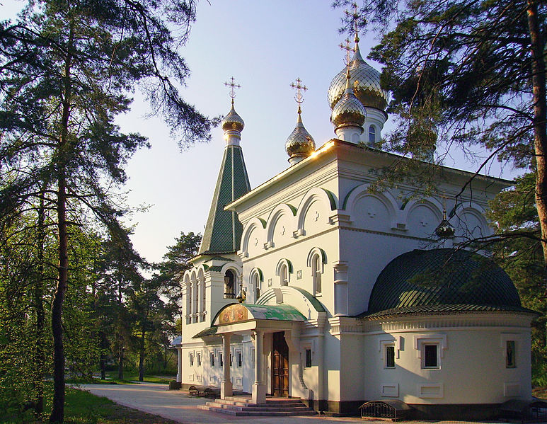
M322 231L329 224L331 212L336 210L335 195L324 188L308 190L296 212L295 236L304 236Z

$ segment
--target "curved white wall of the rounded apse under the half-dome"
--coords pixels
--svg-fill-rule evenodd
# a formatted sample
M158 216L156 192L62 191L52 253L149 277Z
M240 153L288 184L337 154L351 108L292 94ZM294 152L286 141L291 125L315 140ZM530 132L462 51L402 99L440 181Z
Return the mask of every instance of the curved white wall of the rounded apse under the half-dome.
M448 316L446 327L419 321L391 321L385 327L418 327L365 336L365 399L401 399L406 403L502 403L531 394L530 316ZM431 323L431 322L430 322ZM500 326L500 324L505 324ZM423 328L420 328L423 327ZM505 340L515 340L517 366L505 364ZM385 367L385 345L393 344L396 367ZM424 369L422 343L438 343L439 367ZM357 372L357 370L355 370Z

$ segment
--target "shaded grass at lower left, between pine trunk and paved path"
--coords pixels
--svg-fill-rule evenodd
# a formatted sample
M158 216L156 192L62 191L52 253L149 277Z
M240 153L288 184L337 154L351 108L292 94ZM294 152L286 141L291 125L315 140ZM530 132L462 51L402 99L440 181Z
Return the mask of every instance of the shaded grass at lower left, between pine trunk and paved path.
M49 408L47 408L49 412ZM25 416L0 418L1 423L38 423L28 411ZM47 418L47 417L46 417ZM175 424L149 413L137 411L117 405L110 399L95 396L88 391L81 391L67 387L67 399L64 406L65 424Z

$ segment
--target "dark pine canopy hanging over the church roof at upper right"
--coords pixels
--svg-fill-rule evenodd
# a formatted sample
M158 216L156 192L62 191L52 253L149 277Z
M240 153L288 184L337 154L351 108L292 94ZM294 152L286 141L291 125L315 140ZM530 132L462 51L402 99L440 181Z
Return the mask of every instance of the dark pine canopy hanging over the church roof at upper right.
M432 146L479 146L490 157L477 173L494 158L532 171L539 227L529 236L545 263L546 11L538 0L365 0L344 20L381 36L369 57L384 64L398 121L386 149L425 159Z

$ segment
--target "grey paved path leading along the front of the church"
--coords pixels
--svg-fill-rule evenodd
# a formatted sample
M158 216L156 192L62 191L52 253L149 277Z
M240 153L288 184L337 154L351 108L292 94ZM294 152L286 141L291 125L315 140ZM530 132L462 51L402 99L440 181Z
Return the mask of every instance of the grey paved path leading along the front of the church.
M386 421L363 421L361 418L332 418L326 416L282 418L227 416L198 409L197 405L204 404L207 399L191 397L180 390L168 390L167 384L82 384L80 388L91 391L91 393L98 396L105 396L116 403L120 403L120 405L129 406L129 408L139 409L184 424L386 423ZM417 422L406 421L405 423ZM420 423L424 423L424 421ZM454 421L429 421L429 423L454 423ZM457 423L463 424L464 422L458 421Z

